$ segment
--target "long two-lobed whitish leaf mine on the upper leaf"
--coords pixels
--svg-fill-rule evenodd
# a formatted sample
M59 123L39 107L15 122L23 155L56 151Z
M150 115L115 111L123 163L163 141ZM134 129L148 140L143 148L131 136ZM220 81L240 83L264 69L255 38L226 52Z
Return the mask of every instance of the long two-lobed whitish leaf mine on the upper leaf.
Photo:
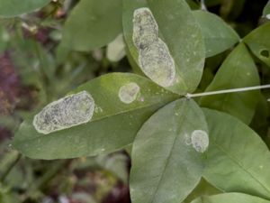
M139 66L148 78L162 87L173 85L175 61L158 37L157 22L146 7L134 11L132 39L139 51Z

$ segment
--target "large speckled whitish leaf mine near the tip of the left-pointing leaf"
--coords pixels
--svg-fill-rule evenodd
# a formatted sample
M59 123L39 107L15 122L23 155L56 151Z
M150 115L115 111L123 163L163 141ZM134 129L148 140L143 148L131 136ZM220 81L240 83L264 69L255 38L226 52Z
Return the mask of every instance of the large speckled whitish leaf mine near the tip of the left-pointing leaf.
M89 122L94 114L94 99L86 91L68 95L45 106L34 116L33 125L40 134L50 134Z

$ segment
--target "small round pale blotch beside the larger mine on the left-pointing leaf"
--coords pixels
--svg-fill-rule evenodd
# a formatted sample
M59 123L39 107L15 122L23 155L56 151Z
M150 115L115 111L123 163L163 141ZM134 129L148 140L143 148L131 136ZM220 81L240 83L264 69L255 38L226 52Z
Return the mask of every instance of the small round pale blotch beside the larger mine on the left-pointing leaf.
M118 97L120 98L121 102L125 104L130 104L139 95L139 86L135 82L130 82L127 85L122 86L119 89Z

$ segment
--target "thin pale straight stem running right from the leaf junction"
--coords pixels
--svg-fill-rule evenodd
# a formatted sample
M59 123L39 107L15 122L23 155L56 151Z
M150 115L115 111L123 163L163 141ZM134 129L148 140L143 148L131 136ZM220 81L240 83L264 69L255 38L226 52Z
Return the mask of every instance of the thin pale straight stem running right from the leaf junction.
M244 92L244 91L262 89L262 88L270 88L270 84L264 85L264 86L247 87L247 88L230 88L230 89L224 89L224 90L219 90L219 91L202 92L202 93L195 93L195 94L187 93L185 97L187 98L205 97L205 96L220 95L220 94L227 94L227 93L233 93L233 92Z

